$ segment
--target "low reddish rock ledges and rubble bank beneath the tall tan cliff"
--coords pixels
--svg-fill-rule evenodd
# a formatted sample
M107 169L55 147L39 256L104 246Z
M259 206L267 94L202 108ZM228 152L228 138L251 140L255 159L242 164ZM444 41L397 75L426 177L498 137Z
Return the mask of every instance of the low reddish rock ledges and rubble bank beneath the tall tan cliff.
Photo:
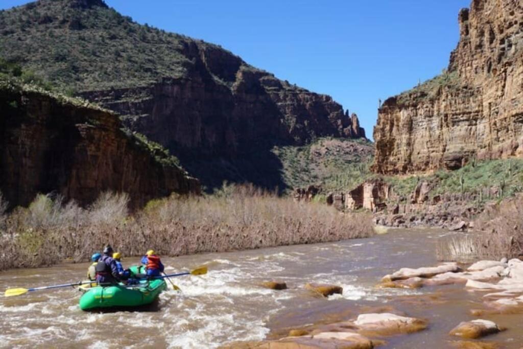
M383 179L369 179L348 192L328 193L326 204L339 211L368 210L374 224L394 228L434 227L465 231L484 209L480 195L472 193L435 194L434 184L419 181L410 195L395 193ZM496 188L486 197L496 197ZM309 186L295 190L295 200L311 201L322 188Z

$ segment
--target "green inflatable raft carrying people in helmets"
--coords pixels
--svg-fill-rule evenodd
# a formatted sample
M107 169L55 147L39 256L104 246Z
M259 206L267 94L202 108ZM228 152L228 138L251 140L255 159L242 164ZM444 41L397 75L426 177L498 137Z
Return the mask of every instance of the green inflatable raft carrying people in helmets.
M139 274L140 267L131 267L131 275ZM137 285L95 286L85 289L80 298L80 309L139 307L152 303L167 289L163 279L140 280Z

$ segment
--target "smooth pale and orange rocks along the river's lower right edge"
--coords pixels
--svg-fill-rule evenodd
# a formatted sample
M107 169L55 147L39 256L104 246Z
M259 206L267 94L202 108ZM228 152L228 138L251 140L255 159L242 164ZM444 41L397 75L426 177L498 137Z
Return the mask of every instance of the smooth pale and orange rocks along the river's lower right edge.
M482 292L483 308L470 308L469 316L472 318L456 321L448 331L447 337L439 339L439 342L457 348L501 347L499 343L491 341L491 336L510 331L510 328L496 323L490 317L494 314L523 313L523 262L518 259L483 260L468 266L452 262L429 267L401 268L385 275L377 287L431 287L431 291L436 295L442 290L441 287L449 285L464 287L471 294ZM326 288L328 285L323 286ZM336 288L335 285L330 287ZM432 296L433 302L438 302L437 298ZM427 318L417 318L391 307L383 307L381 311L360 313L343 321L295 327L280 338L235 342L222 348L374 348L388 344L388 340L397 336L431 331L432 320L430 313L427 313Z

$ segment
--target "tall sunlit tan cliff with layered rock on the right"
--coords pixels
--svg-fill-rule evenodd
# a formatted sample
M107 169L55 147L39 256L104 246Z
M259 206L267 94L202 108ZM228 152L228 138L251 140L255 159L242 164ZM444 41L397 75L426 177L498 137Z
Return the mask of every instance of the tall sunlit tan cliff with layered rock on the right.
M472 157L523 154L521 23L514 0L473 0L461 10L448 70L380 107L374 172L456 169Z

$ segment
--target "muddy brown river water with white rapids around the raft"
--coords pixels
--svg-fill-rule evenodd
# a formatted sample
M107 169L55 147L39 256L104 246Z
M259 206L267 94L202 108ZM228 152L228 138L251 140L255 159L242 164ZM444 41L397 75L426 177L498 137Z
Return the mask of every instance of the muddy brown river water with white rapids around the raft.
M379 289L382 276L401 267L437 263L435 243L453 233L390 230L369 239L271 249L163 258L173 273L207 264L204 276L175 279L182 292L164 292L142 311L83 312L74 288L0 296L0 347L214 348L232 341L277 338L303 325L355 318L359 313L400 311L429 321L428 330L389 337L380 348L447 348L448 332L472 320L481 294L463 285ZM124 252L124 251L122 251ZM124 266L138 257L124 258ZM0 273L0 290L75 282L88 263ZM289 289L260 287L283 280ZM343 286L343 295L317 298L305 283ZM500 347L523 345L523 315L484 316L508 328L485 341Z

